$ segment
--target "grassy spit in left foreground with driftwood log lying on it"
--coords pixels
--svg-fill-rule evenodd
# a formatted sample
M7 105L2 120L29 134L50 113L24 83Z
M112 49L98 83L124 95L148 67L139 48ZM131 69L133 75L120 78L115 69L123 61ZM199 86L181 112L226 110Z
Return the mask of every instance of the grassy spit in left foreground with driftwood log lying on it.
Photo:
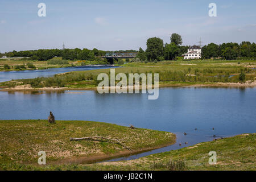
M133 153L175 142L172 133L130 129L110 123L45 120L0 121L0 169L28 169L38 166L38 152L45 151L47 164L89 163L129 155L121 145L99 141L71 141L69 138L101 136L118 139Z

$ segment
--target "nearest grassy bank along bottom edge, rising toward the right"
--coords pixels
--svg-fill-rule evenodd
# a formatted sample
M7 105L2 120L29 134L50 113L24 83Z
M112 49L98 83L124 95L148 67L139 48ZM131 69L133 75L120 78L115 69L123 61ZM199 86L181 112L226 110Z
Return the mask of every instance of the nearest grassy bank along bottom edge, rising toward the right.
M110 170L110 171L158 171L158 170L256 170L256 134L241 134L234 137L218 138L211 142L197 143L193 146L168 152L152 154L135 160L103 162L94 164L6 164L2 169L19 170ZM209 152L217 154L216 164L209 164Z

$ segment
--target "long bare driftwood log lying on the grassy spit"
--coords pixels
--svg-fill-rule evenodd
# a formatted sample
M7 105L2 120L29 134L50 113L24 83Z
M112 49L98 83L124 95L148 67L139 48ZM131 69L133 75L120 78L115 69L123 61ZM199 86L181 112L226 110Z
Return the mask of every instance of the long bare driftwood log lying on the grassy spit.
M123 147L125 147L126 149L128 149L130 152L132 151L131 148L127 147L125 144L123 144L122 142L120 142L117 139L112 139L112 138L106 138L106 137L82 137L82 138L70 138L70 140L75 140L75 141L79 141L79 140L91 140L91 141L99 141L99 142L109 142L109 143L116 143L119 144Z

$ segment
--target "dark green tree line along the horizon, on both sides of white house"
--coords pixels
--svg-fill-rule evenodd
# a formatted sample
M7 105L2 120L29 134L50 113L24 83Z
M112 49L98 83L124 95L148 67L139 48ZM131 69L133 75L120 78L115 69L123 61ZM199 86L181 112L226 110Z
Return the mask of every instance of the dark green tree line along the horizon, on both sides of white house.
M147 39L147 48L144 51L141 47L136 50L102 51L96 48L90 49L39 49L32 51L11 51L0 53L0 56L7 57L29 57L28 60L49 60L53 57L63 57L63 60L100 60L106 53L118 52L138 52L137 59L141 61L162 61L176 60L188 51L190 46L181 46L183 40L181 35L172 34L170 43L163 42L160 38ZM255 59L256 44L250 42L222 43L220 45L210 43L201 49L201 59L222 58L226 60L234 59Z

